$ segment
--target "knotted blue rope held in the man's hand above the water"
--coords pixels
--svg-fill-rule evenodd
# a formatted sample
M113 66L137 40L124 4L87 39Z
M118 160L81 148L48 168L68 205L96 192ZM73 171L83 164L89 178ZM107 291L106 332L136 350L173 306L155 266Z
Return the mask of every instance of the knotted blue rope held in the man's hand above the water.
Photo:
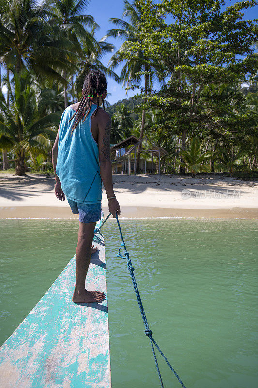
M101 226L103 226L103 224L106 222L106 220L108 219L108 217L110 217L111 213L109 213L109 215L106 217L105 221L101 224ZM134 275L134 267L132 265L132 262L131 262L131 259L129 257L129 253L127 252L127 249L126 249L126 246L125 246L125 243L124 243L124 240L123 240L123 235L122 235L122 231L121 231L121 226L120 226L120 223L118 221L118 216L116 214L116 219L117 219L117 225L118 225L118 228L119 228L119 232L120 232L120 236L121 236L121 240L122 240L122 243L121 243L121 246L118 250L118 253L117 253L117 257L119 258L122 258L122 259L127 259L127 268L128 268L128 271L130 273L130 276L131 276L131 279L132 279L132 282L133 282L133 286L134 286L134 290L135 290L135 293L136 293L136 298L137 298L137 302L138 302L138 305L139 305L139 309L140 309L140 312L141 312L141 316L142 316L142 320L143 320L143 323L144 323L144 326L145 326L145 330L144 330L144 333L147 337L149 337L150 339L150 343L151 343L151 347L152 347L152 353L153 353L153 357L154 357L154 361L155 361L155 364L156 364L156 368L157 368L157 372L158 372L158 376L159 376L159 381L160 381L160 385L162 388L164 388L164 385L163 385L163 381L162 381L162 378L161 378L161 374L160 374L160 370L159 370L159 365L158 365L158 361L157 361L157 356L156 356L156 353L155 353L155 349L154 349L154 346L153 344L155 345L155 347L157 348L157 350L159 351L159 353L161 354L161 356L164 358L164 360L167 362L167 365L169 366L169 368L171 369L171 371L174 373L174 375L176 376L176 378L178 379L178 381L180 382L180 384L182 385L183 388L186 388L185 385L183 384L181 378L179 377L179 375L177 374L177 372L174 370L174 368L171 366L171 364L169 363L169 361L167 360L167 357L164 356L163 352L161 351L161 349L159 348L158 344L156 343L156 341L153 339L152 337L152 330L150 330L149 328L149 324L147 322L147 318L146 318L146 315L145 315L145 311L144 311L144 308L143 308L143 305L142 305L142 301L141 301L141 297L140 297L140 293L139 293L139 290L138 290L138 287L137 287L137 282L136 282L136 278L135 278L135 275ZM100 228L101 226L95 230L95 233L98 232L100 233ZM121 248L124 248L124 256L120 253L120 250Z

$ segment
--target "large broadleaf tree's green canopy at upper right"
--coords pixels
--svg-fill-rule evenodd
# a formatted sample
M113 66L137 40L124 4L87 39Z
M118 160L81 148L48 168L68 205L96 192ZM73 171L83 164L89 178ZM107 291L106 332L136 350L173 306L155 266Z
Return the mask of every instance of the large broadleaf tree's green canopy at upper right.
M150 91L145 103L146 109L158 109L163 115L159 128L164 136L179 136L185 150L187 136L230 143L257 133L257 113L246 112L248 101L241 86L252 83L258 69L253 45L257 26L243 20L242 13L255 1L235 3L226 10L223 0L135 4L141 7L141 19L135 41L127 40L123 57L137 60L141 50L159 77L166 75L164 85Z

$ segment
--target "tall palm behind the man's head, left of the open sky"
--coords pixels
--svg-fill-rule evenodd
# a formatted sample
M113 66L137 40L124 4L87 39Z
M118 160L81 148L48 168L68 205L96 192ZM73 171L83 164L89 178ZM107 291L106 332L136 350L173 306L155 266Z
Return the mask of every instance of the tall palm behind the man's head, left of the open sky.
M51 20L50 25L58 25L61 29L63 36L73 44L73 52L67 53L67 60L69 66L63 69L63 78L66 81L67 73L71 71L71 75L76 70L76 55L83 56L83 49L80 45L80 40L84 41L84 44L91 50L95 51L96 40L91 32L86 30L86 26L93 28L99 27L94 21L91 15L81 14L89 4L88 0L53 0L50 7ZM64 83L64 107L67 108L67 88L66 82Z

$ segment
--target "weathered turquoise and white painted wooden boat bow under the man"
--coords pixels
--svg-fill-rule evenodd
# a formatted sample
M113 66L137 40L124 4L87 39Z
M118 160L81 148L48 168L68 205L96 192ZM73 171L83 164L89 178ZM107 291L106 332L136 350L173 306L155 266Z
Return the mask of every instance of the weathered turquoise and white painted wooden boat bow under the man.
M106 293L104 238L94 237L87 289ZM0 348L0 388L110 388L107 298L74 304L75 256Z

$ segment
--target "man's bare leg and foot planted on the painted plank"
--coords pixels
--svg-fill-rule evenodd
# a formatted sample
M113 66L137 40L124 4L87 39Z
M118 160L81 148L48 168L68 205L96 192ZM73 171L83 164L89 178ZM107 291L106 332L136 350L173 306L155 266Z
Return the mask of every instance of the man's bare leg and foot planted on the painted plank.
M76 284L72 297L73 302L102 302L106 295L100 291L87 291L85 278L91 260L92 241L94 237L95 222L79 222L78 243L76 248ZM93 252L96 251L93 248Z

